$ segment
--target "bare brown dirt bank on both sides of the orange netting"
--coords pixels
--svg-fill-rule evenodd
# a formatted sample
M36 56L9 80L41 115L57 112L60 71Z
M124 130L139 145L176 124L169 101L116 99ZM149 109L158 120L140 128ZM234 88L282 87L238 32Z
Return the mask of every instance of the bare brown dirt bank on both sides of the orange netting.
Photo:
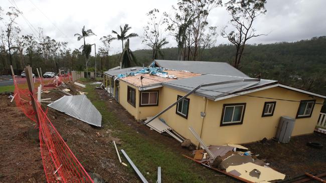
M42 93L42 98L54 101L63 95L51 91ZM28 137L34 122L5 94L0 95L0 111L0 182L45 182L40 143ZM135 174L120 165L112 143L119 143L119 139L110 135L112 131L92 127L52 108L48 116L86 171L100 174L106 182L138 182Z

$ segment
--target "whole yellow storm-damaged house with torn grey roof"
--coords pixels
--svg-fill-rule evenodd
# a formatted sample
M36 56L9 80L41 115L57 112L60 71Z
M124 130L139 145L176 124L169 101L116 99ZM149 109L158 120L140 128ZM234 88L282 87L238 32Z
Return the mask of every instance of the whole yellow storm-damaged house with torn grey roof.
M292 136L312 133L321 108L315 103L326 98L276 80L250 78L225 62L154 60L151 66L165 68L170 78L135 74L142 67L104 72L107 90L137 120L154 116L200 84L225 82L201 87L159 116L194 143L189 126L207 144L272 138L281 116L295 118Z

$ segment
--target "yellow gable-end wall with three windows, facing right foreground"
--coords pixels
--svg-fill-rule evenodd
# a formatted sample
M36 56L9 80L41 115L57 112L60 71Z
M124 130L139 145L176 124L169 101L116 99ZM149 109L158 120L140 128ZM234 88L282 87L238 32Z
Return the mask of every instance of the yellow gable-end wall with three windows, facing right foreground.
M312 98L308 94L281 87L252 92L250 95L289 100L316 99L316 102L323 102L323 98ZM261 117L265 101L276 101L273 116ZM224 103L246 103L242 124L220 126ZM207 144L247 143L264 137L271 138L276 134L280 116L286 115L295 118L298 107L299 102L249 96L236 96L220 101L208 100L202 138ZM312 133L317 123L320 109L321 105L315 104L311 117L296 118L292 136Z

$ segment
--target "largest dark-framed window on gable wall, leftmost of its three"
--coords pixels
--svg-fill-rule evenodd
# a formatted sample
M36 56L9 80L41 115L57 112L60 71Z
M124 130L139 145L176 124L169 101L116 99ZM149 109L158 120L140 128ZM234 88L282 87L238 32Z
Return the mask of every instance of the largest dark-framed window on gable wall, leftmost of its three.
M246 103L230 103L223 105L221 126L242 124Z

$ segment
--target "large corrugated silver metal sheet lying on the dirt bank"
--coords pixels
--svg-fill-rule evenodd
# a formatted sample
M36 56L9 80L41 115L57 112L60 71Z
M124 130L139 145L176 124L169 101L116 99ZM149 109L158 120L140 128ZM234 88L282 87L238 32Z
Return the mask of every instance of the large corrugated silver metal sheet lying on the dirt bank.
M53 103L48 104L48 106L88 124L101 126L101 113L84 94L72 96L65 95Z

